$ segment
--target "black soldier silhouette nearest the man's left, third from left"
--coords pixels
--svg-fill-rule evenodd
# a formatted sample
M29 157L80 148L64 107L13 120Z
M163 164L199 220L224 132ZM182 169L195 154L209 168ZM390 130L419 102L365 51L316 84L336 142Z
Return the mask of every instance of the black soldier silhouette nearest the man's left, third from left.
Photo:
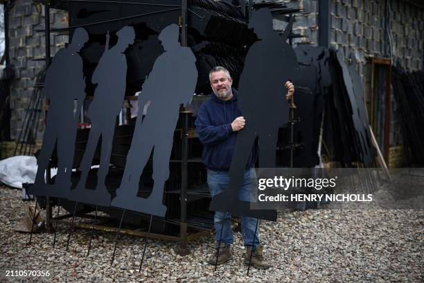
M121 186L111 205L138 212L164 216L164 184L169 177L169 160L173 136L179 117L179 106L189 103L195 92L197 69L195 56L178 42L179 27L164 28L159 40L164 53L154 62L152 71L139 95L139 112L132 144L127 155ZM143 105L150 101L143 119ZM154 185L148 198L137 196L139 180L153 150Z

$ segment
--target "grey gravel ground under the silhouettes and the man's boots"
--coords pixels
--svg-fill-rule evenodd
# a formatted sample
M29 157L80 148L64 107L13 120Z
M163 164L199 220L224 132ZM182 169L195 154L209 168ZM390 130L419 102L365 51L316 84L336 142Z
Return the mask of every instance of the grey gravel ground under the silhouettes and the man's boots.
M213 234L189 243L191 255L176 254L177 243L150 240L141 273L143 239L123 235L114 265L110 259L114 234L98 232L85 257L89 230L33 235L14 228L28 204L21 191L0 187L0 282L423 282L423 211L308 210L280 213L264 221L260 237L272 268L260 271L242 264L244 248L235 233L233 260L218 266L206 263ZM6 270L44 270L49 277L5 277Z

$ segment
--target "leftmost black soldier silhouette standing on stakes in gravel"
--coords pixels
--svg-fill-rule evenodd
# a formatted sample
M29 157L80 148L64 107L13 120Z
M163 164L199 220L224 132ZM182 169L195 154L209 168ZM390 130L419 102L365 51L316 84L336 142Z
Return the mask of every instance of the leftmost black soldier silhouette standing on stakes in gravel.
M76 131L81 105L85 98L82 58L78 52L89 39L84 28L77 28L71 43L60 49L46 70L44 94L50 100L43 145L37 157L37 175L30 189L37 196L66 197L71 186L71 172ZM74 102L77 107L74 111ZM58 153L58 175L55 184L46 185L44 172L55 149Z

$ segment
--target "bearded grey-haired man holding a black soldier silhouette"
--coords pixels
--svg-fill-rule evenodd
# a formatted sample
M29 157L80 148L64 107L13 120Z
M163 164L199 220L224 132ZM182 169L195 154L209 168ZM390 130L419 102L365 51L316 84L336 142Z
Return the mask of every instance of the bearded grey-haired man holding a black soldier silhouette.
M214 67L209 73L213 93L211 99L205 101L200 107L195 125L200 141L204 144L202 159L208 173L208 186L211 197L220 194L229 187L229 168L236 144L237 132L245 128L248 121L242 117L237 107L238 92L232 89L233 80L229 71L224 67ZM285 87L289 89L286 98L290 98L294 92L294 86L287 81ZM242 95L242 94L241 94ZM246 170L245 182L240 189L240 196L249 196L251 187L251 171L256 161L257 144L251 148ZM248 199L247 199L248 200ZM251 264L256 268L268 268L263 259L262 246L259 242L258 230L256 230L256 218L241 217L242 237L247 248L245 262L249 259L249 246L254 244L251 256ZM233 234L231 231L231 215L229 212L215 212L215 232L217 248L209 259L209 263L222 264L232 259L231 244ZM256 230L256 234L254 233ZM218 261L216 260L219 242L224 243L220 249Z

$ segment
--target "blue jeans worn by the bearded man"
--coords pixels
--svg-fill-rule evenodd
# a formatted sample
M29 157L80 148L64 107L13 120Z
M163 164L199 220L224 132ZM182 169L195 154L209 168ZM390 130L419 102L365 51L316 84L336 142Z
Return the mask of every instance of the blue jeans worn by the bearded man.
M229 187L229 175L227 171L212 171L208 169L208 186L211 196L220 194ZM256 193L256 172L254 169L245 170L245 181L239 191L238 198L240 200L252 201L254 194ZM215 212L214 217L215 223L215 239L218 243L222 237L221 243L233 243L233 230L231 230L231 214L229 212ZM241 230L242 237L245 240L246 246L259 245L259 226L255 233L256 221L258 219L251 217L241 217Z

